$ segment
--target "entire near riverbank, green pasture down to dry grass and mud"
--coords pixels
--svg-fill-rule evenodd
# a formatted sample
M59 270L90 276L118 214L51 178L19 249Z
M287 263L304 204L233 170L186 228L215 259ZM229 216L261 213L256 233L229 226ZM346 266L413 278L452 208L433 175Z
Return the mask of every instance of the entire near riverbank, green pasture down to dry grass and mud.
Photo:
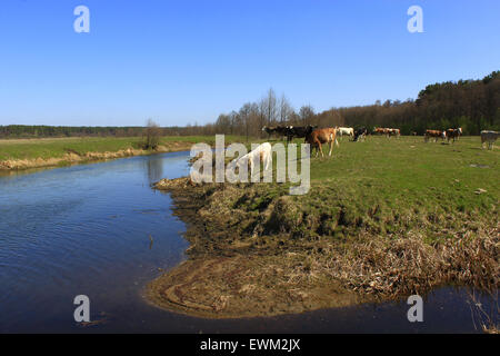
M479 138L342 141L313 158L311 189L163 180L188 222L189 259L149 298L204 317L266 316L424 294L498 293L499 151Z

